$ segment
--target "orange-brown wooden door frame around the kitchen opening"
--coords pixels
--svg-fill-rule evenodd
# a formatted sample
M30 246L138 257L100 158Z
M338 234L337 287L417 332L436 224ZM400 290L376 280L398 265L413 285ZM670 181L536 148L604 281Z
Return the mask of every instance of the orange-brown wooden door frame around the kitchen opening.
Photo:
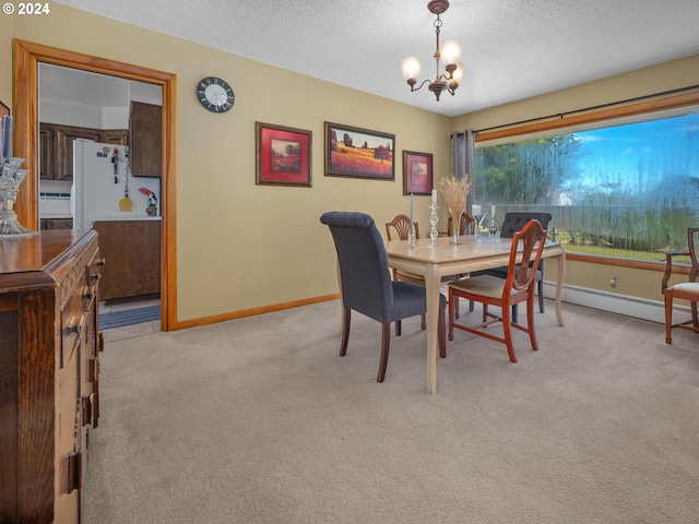
M14 40L14 156L26 158L27 177L17 195L20 222L39 229L38 64L39 62L159 85L163 90L163 178L161 188L161 329L177 329L177 75L55 47ZM107 263L109 263L107 261Z

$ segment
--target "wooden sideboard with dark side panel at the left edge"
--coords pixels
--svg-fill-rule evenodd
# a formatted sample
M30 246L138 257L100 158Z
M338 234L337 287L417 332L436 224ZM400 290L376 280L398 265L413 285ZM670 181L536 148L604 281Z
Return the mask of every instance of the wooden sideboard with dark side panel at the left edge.
M78 523L99 418L95 230L0 239L0 522Z

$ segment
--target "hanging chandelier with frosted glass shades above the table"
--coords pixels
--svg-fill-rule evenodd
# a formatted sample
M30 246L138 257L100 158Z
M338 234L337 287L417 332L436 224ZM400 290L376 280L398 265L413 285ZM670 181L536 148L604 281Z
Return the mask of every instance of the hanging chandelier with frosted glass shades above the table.
M427 88L435 93L437 102L439 102L439 95L443 91L453 95L463 79L463 64L461 60L461 43L459 40L446 40L439 45L439 28L441 27L441 20L439 15L447 11L449 2L447 0L431 0L427 2L427 9L430 13L437 15L435 21L435 34L437 35L437 47L435 50L435 60L437 62L437 75L434 82L425 80L422 84L415 87L417 84L417 78L419 76L419 58L408 57L401 61L401 69L403 70L403 76L407 81L407 85L411 86L411 93L423 87L428 83ZM445 66L445 72L439 72L439 61L441 59Z

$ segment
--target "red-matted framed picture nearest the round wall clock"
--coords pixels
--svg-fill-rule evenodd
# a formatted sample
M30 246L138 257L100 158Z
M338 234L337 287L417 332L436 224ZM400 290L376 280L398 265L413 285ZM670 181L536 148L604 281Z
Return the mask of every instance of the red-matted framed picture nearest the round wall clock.
M311 187L311 131L256 122L257 184Z

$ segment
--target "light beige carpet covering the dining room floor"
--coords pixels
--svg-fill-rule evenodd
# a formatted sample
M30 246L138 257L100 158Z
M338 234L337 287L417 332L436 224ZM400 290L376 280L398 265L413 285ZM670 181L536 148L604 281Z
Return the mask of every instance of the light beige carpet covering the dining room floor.
M418 319L379 384L379 324L355 313L341 358L339 318L108 343L84 522L699 522L697 335L547 301L540 352L457 332L428 395Z

